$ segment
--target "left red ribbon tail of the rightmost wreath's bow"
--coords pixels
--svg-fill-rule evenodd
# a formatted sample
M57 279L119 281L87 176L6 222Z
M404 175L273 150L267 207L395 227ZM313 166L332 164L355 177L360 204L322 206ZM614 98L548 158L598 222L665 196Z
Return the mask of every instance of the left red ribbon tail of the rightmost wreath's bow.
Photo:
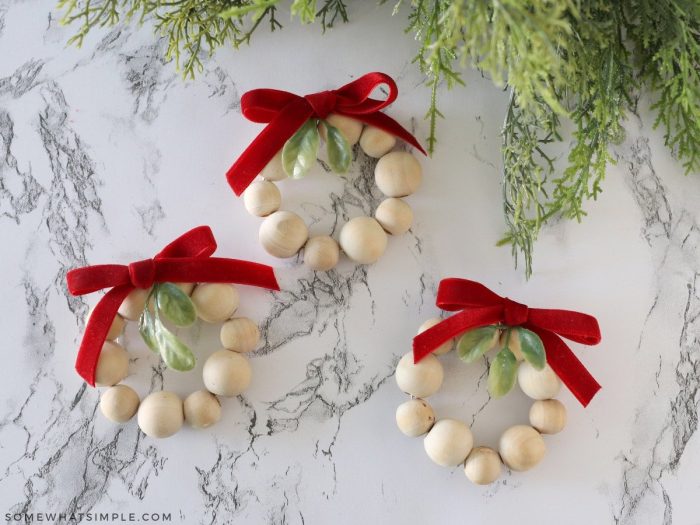
M442 343L471 328L497 323L503 317L500 306L462 310L413 338L413 362L418 363Z

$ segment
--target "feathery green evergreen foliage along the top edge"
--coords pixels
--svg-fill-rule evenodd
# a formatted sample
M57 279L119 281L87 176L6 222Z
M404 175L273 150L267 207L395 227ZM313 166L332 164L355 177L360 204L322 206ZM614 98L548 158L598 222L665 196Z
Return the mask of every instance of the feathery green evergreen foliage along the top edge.
M386 0L380 0L384 3ZM64 22L79 24L80 44L95 26L153 18L166 55L185 76L224 45L249 43L263 25L282 27L280 5L323 31L348 21L342 0L60 0ZM359 3L358 3L359 4ZM700 1L698 0L398 0L418 42L414 62L427 77L428 147L437 143L439 87L463 85L474 67L510 102L502 134L501 244L532 271L541 228L559 217L580 221L601 191L612 144L650 92L655 126L686 173L700 170ZM565 136L563 128L573 132ZM564 142L565 141L565 142ZM566 166L556 152L570 144Z

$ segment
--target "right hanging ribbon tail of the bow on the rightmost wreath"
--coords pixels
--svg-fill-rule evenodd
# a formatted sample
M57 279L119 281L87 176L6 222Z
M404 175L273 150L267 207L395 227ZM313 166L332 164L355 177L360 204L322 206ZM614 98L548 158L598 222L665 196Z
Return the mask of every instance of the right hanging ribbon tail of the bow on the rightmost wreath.
M588 406L601 386L578 360L571 348L555 333L526 325L542 339L547 363L584 407Z

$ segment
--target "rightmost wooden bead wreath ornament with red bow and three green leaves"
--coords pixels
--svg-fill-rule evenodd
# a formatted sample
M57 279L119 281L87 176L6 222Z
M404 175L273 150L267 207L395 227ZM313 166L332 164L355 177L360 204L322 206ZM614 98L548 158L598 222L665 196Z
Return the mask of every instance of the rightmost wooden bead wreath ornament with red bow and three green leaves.
M463 465L466 477L477 485L496 481L503 465L513 471L532 469L546 452L543 435L556 434L566 426L566 408L553 399L561 383L583 406L600 389L560 338L597 344L597 321L580 312L528 308L465 279L441 281L436 304L457 313L445 320L423 323L413 340L413 351L399 360L396 383L411 396L396 411L399 430L410 437L425 436L423 446L433 462L446 467ZM507 394L517 382L534 400L530 424L506 429L498 450L474 447L474 437L465 423L440 419L425 400L442 386L444 371L436 356L455 347L466 363L497 349L489 367L491 397Z

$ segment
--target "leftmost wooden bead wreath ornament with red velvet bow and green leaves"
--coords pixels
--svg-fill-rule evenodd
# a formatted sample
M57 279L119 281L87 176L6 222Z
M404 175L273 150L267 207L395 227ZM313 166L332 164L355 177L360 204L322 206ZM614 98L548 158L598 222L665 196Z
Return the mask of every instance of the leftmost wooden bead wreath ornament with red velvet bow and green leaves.
M239 305L234 283L271 290L279 286L269 266L211 257L215 250L211 230L202 226L178 237L153 259L68 272L73 295L111 288L88 317L76 361L76 370L90 385L108 387L102 392L100 410L110 421L126 423L137 415L139 428L153 438L172 436L184 422L208 428L221 417L217 396L236 396L250 385L252 369L243 354L257 347L260 332L250 319L232 317ZM128 375L129 353L115 339L126 322L138 320L146 345L168 368L184 372L194 367L195 355L164 321L184 327L197 318L223 323L224 348L204 363L206 390L193 392L184 401L167 391L140 400L131 387L121 384Z

